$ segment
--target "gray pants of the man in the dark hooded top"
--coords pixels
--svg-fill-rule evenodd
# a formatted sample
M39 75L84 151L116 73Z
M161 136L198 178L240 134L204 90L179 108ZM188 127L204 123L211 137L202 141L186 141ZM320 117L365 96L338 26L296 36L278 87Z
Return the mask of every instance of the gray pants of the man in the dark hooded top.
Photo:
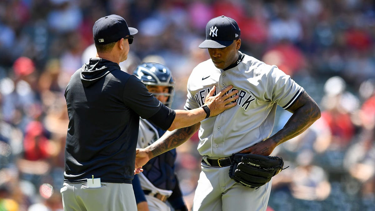
M102 182L102 187L89 188L87 182L64 182L60 193L65 211L137 210L132 184Z

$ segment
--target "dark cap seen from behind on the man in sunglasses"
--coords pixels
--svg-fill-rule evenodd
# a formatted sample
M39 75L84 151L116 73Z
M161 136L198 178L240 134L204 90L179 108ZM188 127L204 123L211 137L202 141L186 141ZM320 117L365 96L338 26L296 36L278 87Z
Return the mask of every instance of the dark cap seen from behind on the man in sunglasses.
M135 35L138 30L128 27L125 19L119 15L99 18L93 26L95 44L117 42L127 35Z

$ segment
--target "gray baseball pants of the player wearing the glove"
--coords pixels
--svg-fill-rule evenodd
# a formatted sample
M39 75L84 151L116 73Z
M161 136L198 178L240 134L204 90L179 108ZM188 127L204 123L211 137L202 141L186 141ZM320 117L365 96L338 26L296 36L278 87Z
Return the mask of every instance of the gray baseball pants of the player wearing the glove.
M215 168L202 164L193 200L193 211L266 211L271 182L258 189L229 178L230 166Z

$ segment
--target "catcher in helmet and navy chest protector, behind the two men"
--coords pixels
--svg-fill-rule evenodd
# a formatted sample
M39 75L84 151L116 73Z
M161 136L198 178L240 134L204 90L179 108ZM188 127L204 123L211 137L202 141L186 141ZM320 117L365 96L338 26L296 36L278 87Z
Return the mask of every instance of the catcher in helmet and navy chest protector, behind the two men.
M171 107L174 95L172 73L160 63L142 63L133 73L148 91L167 107ZM138 148L154 143L165 133L146 119L139 119ZM187 211L177 176L174 172L176 150L172 149L152 158L143 166L143 173L134 175L133 190L138 211ZM168 201L169 205L166 203Z

